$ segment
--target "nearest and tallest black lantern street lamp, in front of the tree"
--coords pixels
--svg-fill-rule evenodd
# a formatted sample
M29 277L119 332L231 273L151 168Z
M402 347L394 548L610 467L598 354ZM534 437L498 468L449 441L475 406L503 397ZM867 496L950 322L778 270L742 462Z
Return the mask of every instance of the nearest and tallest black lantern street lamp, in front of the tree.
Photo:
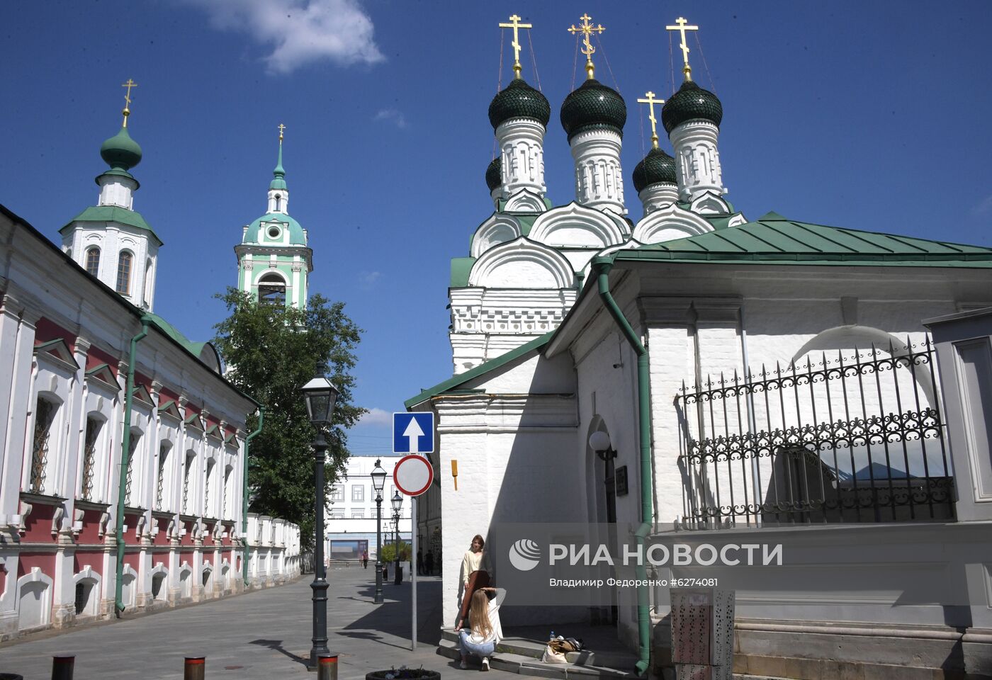
M334 404L337 401L337 388L331 385L330 381L323 375L323 367L317 367L316 376L305 385L301 392L307 403L307 415L310 417L310 424L316 428L316 439L313 440L313 477L315 494L313 498L314 514L314 549L316 555L313 565L313 583L310 588L313 590L313 637L310 647L310 666L316 667L317 659L321 655L330 653L327 649L327 572L323 565L323 506L326 503L326 494L323 488L323 463L327 452L327 441L323 438L323 431L330 427L330 419L334 414Z

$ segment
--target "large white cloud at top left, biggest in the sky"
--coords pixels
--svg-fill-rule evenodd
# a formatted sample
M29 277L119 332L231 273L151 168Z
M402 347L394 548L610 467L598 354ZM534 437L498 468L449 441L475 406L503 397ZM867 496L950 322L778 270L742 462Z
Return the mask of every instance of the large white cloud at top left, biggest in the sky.
M272 49L269 70L290 71L328 59L341 66L385 60L372 20L358 0L186 0L218 29L247 34Z

